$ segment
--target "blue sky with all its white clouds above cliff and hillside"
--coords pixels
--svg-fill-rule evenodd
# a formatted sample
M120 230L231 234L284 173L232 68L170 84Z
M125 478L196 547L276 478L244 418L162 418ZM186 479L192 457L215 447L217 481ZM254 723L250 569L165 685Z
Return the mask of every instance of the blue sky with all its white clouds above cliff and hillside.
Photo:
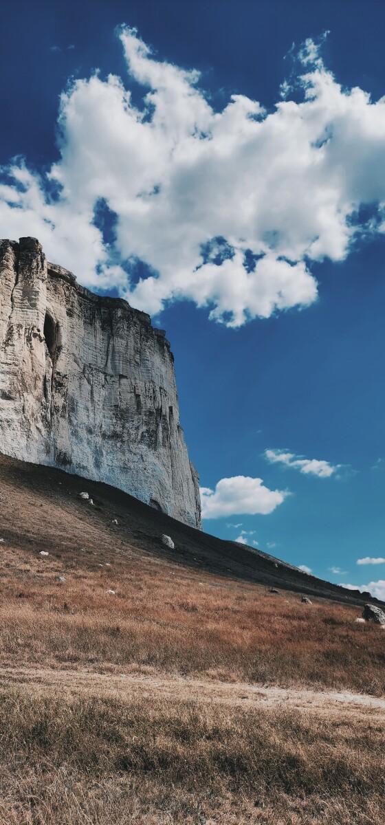
M385 598L383 3L54 6L3 10L0 235L167 329L206 530Z

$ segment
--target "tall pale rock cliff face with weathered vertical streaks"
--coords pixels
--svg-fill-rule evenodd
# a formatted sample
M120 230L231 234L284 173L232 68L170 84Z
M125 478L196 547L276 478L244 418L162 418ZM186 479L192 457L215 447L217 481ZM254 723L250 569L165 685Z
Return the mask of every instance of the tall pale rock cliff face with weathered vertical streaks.
M0 242L0 451L201 526L164 332L47 264L35 238Z

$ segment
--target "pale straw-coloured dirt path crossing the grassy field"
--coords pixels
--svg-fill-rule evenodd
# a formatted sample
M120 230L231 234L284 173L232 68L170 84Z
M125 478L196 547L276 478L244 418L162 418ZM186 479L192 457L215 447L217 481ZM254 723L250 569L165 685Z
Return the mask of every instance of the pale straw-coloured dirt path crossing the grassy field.
M106 674L86 670L54 670L42 667L0 667L0 686L17 685L27 691L73 695L111 696L120 700L157 698L234 706L284 707L300 711L339 714L368 710L385 719L385 699L349 691L294 690L255 686L242 682L204 681L183 676Z

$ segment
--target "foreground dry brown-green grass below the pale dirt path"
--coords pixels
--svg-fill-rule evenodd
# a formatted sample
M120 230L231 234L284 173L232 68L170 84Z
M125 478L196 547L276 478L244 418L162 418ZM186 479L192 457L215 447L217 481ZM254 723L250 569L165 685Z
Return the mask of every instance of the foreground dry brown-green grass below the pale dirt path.
M3 825L382 825L383 727L367 711L0 693Z

